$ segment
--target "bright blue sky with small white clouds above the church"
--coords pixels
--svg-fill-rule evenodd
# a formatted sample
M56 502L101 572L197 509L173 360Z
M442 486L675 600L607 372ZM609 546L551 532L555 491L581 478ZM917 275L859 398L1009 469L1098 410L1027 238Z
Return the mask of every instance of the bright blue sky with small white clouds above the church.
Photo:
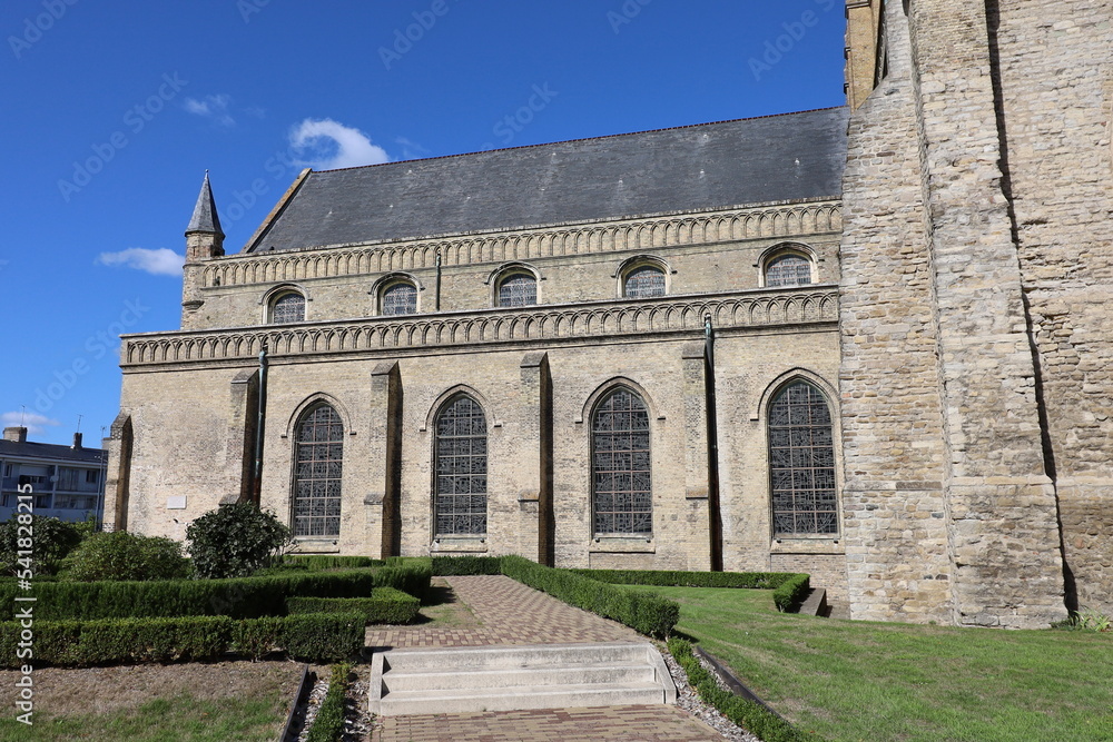
M6 0L2 422L111 424L117 336L178 327L206 169L235 253L303 167L838 106L843 4Z

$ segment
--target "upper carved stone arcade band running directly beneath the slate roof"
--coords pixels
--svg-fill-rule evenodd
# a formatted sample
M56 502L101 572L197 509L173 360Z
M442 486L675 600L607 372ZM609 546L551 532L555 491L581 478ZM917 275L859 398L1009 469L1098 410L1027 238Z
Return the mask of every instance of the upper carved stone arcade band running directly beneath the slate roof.
M441 253L442 265L459 266L768 237L794 238L837 233L841 228L839 201L811 201L443 239L240 254L207 264L203 285L244 286L416 270L434 267L437 253Z

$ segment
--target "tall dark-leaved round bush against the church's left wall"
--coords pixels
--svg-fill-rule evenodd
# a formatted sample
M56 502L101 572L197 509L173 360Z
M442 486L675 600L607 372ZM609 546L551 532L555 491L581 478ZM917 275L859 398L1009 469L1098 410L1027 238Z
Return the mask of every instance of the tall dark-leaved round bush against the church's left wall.
M273 513L234 503L190 523L186 540L199 576L246 577L270 565L290 543L290 534Z

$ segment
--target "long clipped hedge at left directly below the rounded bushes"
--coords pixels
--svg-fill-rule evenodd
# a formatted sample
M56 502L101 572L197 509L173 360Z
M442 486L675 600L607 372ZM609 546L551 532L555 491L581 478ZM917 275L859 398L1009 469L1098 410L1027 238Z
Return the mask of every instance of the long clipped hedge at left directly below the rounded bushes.
M280 616L286 597L367 597L375 587L394 587L423 597L432 573L420 565L308 572L233 580L36 583L36 617L95 620L226 615ZM14 584L0 584L0 604L14 605Z

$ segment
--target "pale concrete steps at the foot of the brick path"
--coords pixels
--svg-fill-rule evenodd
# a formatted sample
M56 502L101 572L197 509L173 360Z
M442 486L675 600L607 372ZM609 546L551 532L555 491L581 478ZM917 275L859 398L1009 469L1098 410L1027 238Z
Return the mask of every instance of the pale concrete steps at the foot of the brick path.
M392 650L372 659L368 706L383 715L676 703L651 644Z

